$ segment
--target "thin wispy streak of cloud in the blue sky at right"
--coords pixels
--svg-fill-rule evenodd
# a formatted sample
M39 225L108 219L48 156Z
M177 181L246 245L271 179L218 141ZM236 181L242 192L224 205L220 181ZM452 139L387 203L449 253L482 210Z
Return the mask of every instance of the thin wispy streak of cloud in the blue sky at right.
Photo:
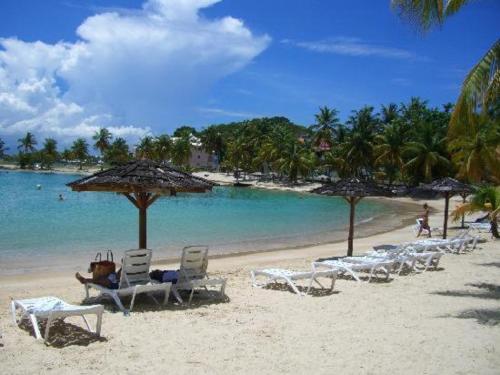
M375 56L388 59L404 59L404 60L425 60L425 57L417 57L414 52L386 47L376 44L364 42L359 38L350 37L336 37L319 41L294 41L290 39L283 39L283 44L293 45L313 52L319 53L333 53L345 56Z

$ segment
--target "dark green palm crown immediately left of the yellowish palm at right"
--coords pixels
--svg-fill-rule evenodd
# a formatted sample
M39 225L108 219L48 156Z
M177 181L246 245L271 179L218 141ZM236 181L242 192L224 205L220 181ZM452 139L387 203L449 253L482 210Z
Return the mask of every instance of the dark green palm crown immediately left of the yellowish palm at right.
M423 178L430 182L436 173L450 166L450 161L444 156L446 138L436 134L430 123L422 124L417 135L416 141L408 142L404 147L404 154L410 157L404 168L415 181Z

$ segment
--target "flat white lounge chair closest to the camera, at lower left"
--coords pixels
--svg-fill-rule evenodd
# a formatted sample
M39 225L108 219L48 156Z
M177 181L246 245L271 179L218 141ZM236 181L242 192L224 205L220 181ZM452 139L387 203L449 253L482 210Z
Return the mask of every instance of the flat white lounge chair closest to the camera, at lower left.
M17 319L17 310L21 310L21 317ZM42 338L40 334L40 328L38 327L37 318L47 319L47 325L45 326L44 341L49 338L50 327L56 319L64 320L70 316L81 316L87 329L91 333L95 333L97 336L101 334L101 323L102 323L102 313L104 307L102 305L92 305L92 306L76 306L70 305L57 297L40 297L31 299L21 299L12 300L11 302L12 319L14 324L19 325L24 319L31 321L33 330L35 331L35 337L37 340ZM88 320L85 315L96 314L97 323L96 329L93 331L90 328Z

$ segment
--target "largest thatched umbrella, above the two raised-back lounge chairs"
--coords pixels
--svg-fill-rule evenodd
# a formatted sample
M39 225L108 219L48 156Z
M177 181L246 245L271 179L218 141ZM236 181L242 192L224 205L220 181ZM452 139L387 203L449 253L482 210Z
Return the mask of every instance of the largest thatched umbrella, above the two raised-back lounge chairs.
M146 212L162 195L204 193L213 183L163 163L136 160L67 184L73 191L102 191L124 195L139 209L139 248L147 247Z

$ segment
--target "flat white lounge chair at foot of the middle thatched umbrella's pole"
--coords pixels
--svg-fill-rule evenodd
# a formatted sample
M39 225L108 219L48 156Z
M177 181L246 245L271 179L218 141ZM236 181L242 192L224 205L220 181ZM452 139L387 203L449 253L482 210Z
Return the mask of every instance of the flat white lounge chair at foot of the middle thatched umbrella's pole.
M319 267L338 270L340 275L349 274L356 281L361 281L356 272L369 272L368 282L371 281L377 272L382 272L385 279L389 278L389 273L394 267L394 260L390 259L375 259L370 257L349 257L339 260L323 260L312 263L313 270Z

